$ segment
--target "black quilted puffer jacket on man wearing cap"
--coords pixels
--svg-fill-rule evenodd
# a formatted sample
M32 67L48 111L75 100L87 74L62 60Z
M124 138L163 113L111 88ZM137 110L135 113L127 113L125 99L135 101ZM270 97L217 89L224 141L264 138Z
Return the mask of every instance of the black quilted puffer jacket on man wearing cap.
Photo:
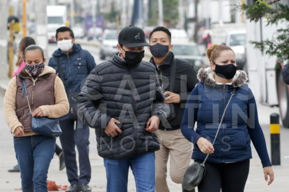
M151 116L165 119L164 96L155 67L141 62L135 67L115 55L97 65L78 96L78 116L95 128L98 154L122 159L159 149L157 138L144 128ZM123 133L108 136L104 130L111 118L121 122Z

